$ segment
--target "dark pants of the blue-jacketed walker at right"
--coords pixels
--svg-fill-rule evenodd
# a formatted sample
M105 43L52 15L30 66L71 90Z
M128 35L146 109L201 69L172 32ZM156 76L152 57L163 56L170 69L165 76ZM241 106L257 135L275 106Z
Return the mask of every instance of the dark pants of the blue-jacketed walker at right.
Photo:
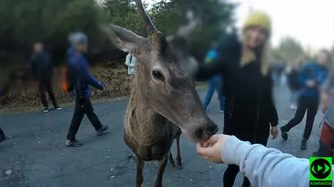
M294 115L294 118L290 120L285 126L282 127L284 131L289 131L297 124L299 124L305 115L305 112L308 111L306 116L306 125L303 134L303 138L310 138L313 123L315 122L315 115L317 115L319 108L319 99L311 97L300 97L298 101L297 111Z

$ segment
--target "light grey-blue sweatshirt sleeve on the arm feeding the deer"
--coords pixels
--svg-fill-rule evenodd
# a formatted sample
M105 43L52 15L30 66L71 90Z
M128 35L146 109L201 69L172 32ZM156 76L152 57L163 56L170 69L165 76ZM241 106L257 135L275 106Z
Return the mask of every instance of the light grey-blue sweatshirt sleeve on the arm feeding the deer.
M235 136L228 138L221 155L224 163L239 165L253 186L310 186L308 159L296 158L263 145L250 145Z

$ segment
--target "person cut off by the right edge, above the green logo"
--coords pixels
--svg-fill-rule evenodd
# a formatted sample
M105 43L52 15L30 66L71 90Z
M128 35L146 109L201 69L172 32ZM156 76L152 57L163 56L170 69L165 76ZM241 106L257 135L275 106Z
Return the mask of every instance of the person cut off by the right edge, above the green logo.
M322 122L321 135L319 139L319 149L313 153L313 156L333 157L334 149L334 72L328 76L324 83L322 92L322 103L325 113L324 121Z

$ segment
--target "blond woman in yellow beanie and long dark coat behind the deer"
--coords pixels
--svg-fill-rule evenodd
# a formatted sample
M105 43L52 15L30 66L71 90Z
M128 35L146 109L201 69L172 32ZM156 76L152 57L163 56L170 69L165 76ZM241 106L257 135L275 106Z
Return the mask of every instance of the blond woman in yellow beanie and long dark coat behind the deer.
M273 101L269 70L269 36L271 20L266 13L253 12L242 28L241 38L228 35L219 42L218 56L198 67L197 78L207 80L223 76L225 95L223 133L240 140L266 146L271 134L278 136L278 115ZM232 187L239 166L228 165L223 186ZM250 186L245 177L243 186Z

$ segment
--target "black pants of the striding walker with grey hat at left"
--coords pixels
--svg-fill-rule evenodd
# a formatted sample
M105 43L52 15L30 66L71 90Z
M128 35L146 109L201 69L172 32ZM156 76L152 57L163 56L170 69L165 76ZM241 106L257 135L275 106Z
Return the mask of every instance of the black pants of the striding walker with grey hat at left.
M102 124L97 118L97 115L94 113L94 108L92 104L90 103L89 99L76 99L75 100L75 108L74 108L74 114L72 117L72 121L70 124L70 129L67 133L67 140L75 140L75 135L77 134L80 124L82 122L82 119L84 118L84 115L87 115L88 120L95 128L95 131L101 129Z

